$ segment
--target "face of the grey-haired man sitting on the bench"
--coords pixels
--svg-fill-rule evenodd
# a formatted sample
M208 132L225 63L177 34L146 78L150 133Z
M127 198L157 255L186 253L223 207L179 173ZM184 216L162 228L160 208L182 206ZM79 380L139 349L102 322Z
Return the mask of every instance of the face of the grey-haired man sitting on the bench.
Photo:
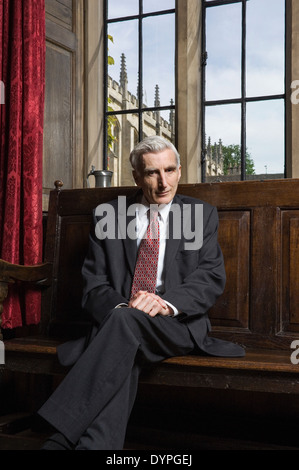
M149 204L168 204L177 191L181 166L177 166L174 152L165 149L143 155L143 165L133 176Z

